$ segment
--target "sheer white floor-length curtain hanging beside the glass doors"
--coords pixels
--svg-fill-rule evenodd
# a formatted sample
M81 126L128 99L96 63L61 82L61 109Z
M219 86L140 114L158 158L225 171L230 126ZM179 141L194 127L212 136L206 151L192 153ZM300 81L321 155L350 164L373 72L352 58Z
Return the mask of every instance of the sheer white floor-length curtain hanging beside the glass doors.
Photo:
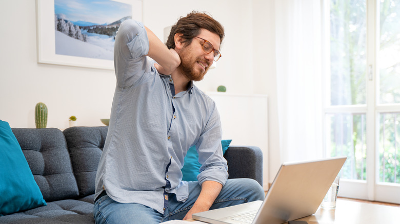
M323 156L321 1L275 0L281 162Z

